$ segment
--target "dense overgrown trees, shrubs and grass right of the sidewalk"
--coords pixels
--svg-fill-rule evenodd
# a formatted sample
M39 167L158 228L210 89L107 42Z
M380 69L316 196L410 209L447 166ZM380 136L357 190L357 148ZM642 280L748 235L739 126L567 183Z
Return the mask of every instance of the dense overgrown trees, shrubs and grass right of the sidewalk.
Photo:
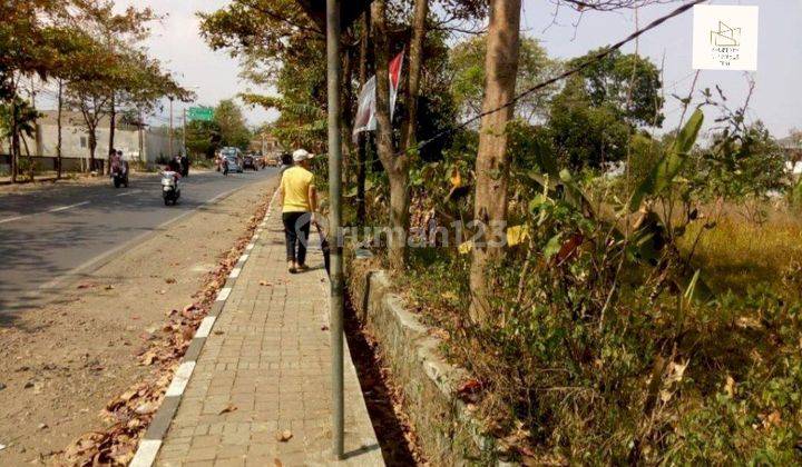
M491 10L486 32L464 33ZM799 464L802 228L782 136L747 117L751 92L694 81L665 97L659 64L635 53L555 60L519 36L517 11L512 0L374 1L345 31L345 135L373 71L379 129L343 139L344 223L413 236L414 248L359 240L473 375L502 457ZM254 83L276 87L281 97L245 98L281 110L285 147L324 150L324 72L309 69L324 44L293 2L234 1L202 30ZM390 42L390 31L407 33ZM382 76L402 48L410 74L390 120ZM675 128L666 99L682 106ZM457 125L481 109L502 110ZM502 221L485 238L507 245L471 241L482 236L469 227L456 238L472 219Z

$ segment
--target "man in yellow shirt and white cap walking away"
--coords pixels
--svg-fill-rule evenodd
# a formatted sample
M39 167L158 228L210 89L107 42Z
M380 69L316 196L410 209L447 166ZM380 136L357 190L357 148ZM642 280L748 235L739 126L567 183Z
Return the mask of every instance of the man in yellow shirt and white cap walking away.
M278 188L286 240L287 270L295 274L309 269L306 260L306 242L309 241L310 223L317 208L317 192L314 175L309 171L310 159L314 155L305 149L293 152L294 165L282 173Z

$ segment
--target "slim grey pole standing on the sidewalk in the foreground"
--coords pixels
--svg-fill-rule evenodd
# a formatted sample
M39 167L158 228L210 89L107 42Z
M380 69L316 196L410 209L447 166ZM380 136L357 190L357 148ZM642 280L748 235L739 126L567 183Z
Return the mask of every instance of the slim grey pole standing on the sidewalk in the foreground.
M330 311L332 339L332 450L336 459L344 453L343 430L343 268L340 240L342 202L342 145L340 133L340 0L326 0L326 62L329 79L329 237L331 251Z

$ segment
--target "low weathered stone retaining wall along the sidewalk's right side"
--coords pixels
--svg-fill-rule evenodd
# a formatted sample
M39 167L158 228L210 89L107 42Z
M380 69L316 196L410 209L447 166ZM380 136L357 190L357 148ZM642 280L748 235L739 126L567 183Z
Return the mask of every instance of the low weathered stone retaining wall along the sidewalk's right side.
M370 254L358 251L352 261L365 257ZM446 362L441 340L392 294L384 271L349 269L351 304L403 390L404 409L429 461L436 466L500 465L495 440L480 433L457 397L467 371Z

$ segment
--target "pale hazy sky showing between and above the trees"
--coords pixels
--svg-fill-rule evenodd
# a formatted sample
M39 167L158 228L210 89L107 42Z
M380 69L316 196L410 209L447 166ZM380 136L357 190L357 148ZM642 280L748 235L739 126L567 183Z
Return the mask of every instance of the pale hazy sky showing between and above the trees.
M635 29L635 14L623 12L578 13L567 8L556 9L554 0L522 0L521 27L525 33L542 41L549 54L571 58L615 42ZM237 61L225 52L213 52L198 37L196 11L212 11L226 0L126 0L120 6L150 6L166 18L154 24L147 46L164 61L177 78L198 95L198 101L214 105L219 99L235 96L247 89L239 80ZM639 10L643 27L681 2L653 6ZM760 6L759 68L752 73L756 82L750 117L762 119L777 137L790 128L802 128L802 0L712 0L711 4ZM556 16L555 16L556 14ZM669 20L642 37L639 52L659 66L665 54L666 122L676 125L679 105L672 93L687 95L693 81L691 68L692 12ZM625 49L633 51L634 44ZM739 71L702 71L697 89L720 83L728 101L742 102L746 93L746 79ZM175 115L180 115L176 106ZM251 123L258 123L274 115L261 109L247 110Z

